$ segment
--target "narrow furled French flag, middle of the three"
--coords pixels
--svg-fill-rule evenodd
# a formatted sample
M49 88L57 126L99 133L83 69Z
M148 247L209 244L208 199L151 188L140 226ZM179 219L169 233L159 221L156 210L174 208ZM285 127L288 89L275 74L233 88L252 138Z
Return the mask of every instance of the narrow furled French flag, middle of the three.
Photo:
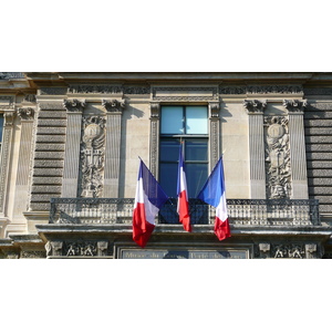
M179 222L184 225L184 229L191 231L189 204L188 204L188 189L186 180L185 164L183 158L183 146L179 148L179 162L177 170L177 212Z

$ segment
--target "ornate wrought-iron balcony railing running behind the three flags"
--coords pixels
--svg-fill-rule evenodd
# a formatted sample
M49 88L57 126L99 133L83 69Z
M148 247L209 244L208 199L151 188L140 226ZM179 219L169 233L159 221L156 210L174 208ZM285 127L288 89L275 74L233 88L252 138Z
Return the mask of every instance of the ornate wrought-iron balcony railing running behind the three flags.
M179 225L176 198L159 210L156 224ZM312 226L320 225L315 199L228 199L230 225ZM52 198L49 224L131 225L134 198ZM193 225L215 222L216 209L200 199L189 199Z

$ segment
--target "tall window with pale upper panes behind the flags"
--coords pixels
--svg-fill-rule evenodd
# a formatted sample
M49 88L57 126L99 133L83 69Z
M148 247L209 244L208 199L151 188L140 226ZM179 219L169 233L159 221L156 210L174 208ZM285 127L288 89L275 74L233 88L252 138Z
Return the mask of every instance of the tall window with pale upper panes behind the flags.
M207 106L162 107L159 181L169 197L176 197L180 144L186 164L188 196L194 198L208 176Z

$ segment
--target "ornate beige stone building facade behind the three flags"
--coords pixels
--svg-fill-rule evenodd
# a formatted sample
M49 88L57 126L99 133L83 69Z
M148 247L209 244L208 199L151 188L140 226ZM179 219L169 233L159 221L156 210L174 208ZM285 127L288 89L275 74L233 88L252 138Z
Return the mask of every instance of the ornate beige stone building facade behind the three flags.
M1 258L331 258L330 73L0 73L0 120ZM221 154L231 237L218 241L195 197ZM172 197L144 250L138 156Z

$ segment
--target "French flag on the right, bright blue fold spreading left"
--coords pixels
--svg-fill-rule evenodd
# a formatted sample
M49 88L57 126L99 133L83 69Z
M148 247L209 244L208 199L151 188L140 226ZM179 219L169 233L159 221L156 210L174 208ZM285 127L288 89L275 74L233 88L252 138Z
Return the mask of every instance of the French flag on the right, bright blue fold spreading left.
M224 166L220 157L203 189L197 198L216 207L215 234L219 241L230 237L230 228L228 222Z

